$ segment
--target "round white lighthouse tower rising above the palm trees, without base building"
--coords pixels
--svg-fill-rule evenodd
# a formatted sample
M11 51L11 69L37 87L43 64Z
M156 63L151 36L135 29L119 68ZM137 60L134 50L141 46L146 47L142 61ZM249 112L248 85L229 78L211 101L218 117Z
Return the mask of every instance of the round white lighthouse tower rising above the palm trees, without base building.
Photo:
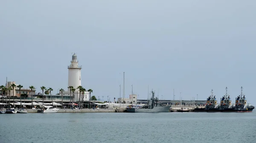
M72 61L70 65L67 67L68 87L73 86L76 89L78 86L81 86L81 68L82 67L78 65L76 53L74 53L72 56ZM69 88L68 91L70 91Z

